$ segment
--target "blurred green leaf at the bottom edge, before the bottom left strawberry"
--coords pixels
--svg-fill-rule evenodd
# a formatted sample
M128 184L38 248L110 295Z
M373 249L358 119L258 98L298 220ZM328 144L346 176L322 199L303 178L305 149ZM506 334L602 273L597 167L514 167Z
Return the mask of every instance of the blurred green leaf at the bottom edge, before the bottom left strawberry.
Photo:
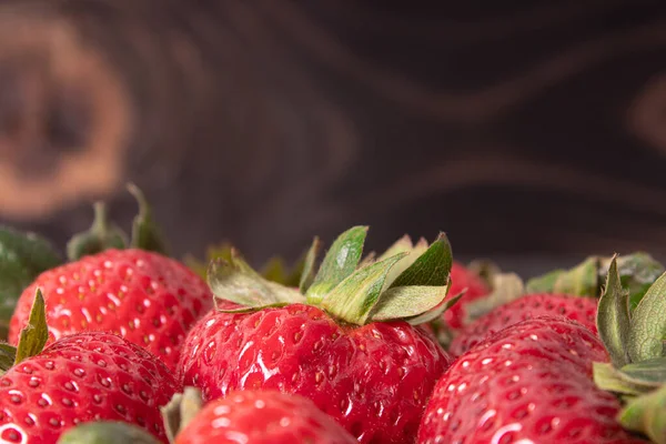
M120 421L94 421L69 428L58 444L159 444L137 425Z

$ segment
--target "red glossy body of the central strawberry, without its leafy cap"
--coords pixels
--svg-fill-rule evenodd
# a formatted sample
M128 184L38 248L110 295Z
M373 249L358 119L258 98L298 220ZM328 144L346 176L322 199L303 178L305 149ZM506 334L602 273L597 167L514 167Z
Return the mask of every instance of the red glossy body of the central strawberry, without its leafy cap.
M448 356L405 322L340 326L293 304L211 313L190 332L182 381L205 400L275 389L312 400L362 443L412 443Z

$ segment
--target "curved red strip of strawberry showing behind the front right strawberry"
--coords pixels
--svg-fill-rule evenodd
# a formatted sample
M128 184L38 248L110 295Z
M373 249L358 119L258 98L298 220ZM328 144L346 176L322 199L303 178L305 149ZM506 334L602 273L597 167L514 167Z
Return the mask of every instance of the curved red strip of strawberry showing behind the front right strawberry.
M501 305L465 326L453 340L448 351L460 356L492 334L517 322L538 316L563 316L577 321L597 334L598 300L565 294L529 294Z

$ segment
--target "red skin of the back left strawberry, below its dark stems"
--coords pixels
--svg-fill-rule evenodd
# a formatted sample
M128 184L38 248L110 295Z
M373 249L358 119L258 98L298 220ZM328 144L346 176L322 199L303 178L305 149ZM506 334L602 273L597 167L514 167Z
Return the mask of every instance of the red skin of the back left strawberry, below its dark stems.
M39 275L19 299L11 343L28 322L38 287L51 341L81 331L114 332L171 369L186 332L213 303L205 282L181 263L143 250L108 250Z

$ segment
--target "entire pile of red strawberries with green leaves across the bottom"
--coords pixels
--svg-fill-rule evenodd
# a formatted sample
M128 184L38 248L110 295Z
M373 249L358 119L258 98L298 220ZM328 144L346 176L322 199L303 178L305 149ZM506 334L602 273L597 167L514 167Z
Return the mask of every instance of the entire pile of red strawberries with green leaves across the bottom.
M205 276L95 205L67 245L0 228L0 443L666 443L666 275L645 253L528 282L444 234Z

